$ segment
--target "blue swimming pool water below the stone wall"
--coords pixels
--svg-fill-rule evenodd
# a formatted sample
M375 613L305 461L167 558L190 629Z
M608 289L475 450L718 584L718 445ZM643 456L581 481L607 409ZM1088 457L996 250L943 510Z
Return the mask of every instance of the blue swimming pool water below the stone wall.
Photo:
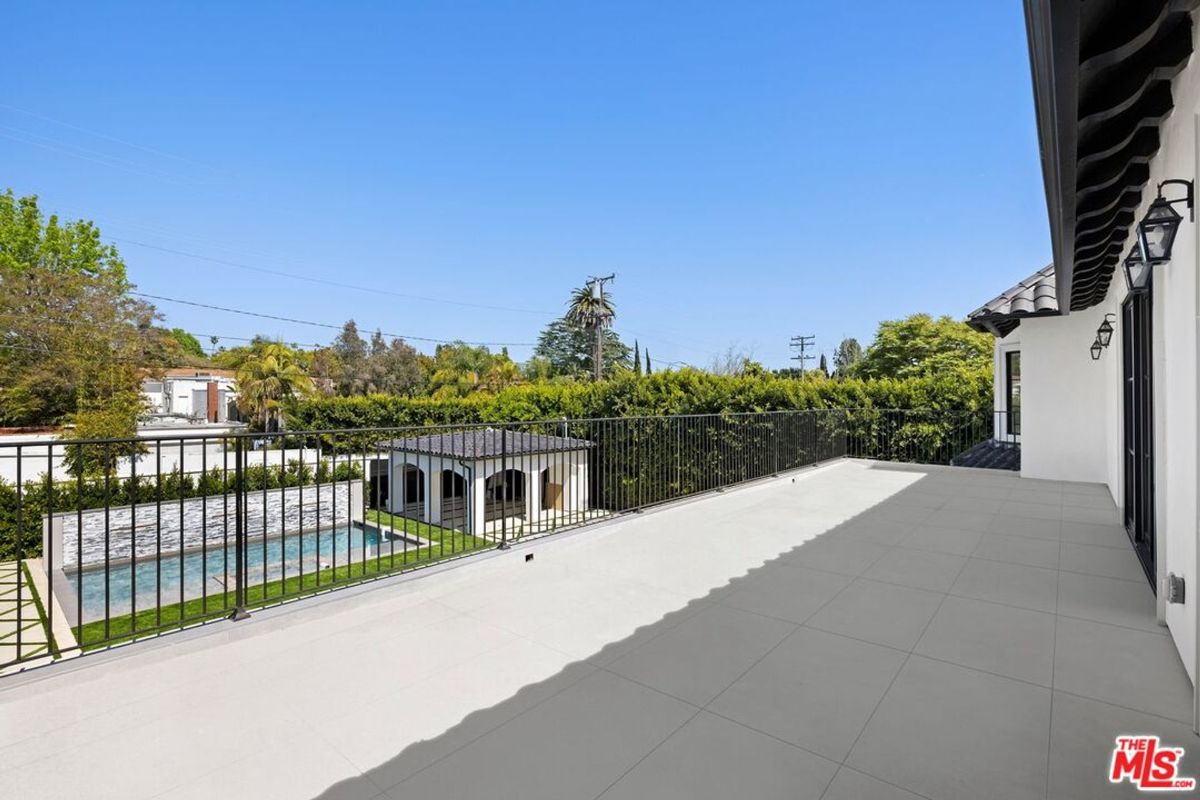
M379 541L378 530L359 525L251 541L246 554L247 583L254 585L277 581L284 575L292 577L299 575L301 567L307 575L318 567L318 563L323 567L335 563L342 566L361 560L364 553L373 558L379 551ZM401 552L403 543L385 536L385 555L392 546ZM184 600L205 594L220 597L226 591L233 591L235 569L232 543L228 547L209 547L208 552L163 554L161 559L113 566L107 582L103 569L85 570L82 578L80 573L68 573L72 596L60 602L72 609L82 602L83 621L88 622L103 619L106 612L113 616L131 613L134 610L134 597L137 610L154 608L160 596L163 604L179 602L181 594ZM220 608L220 600L217 603Z

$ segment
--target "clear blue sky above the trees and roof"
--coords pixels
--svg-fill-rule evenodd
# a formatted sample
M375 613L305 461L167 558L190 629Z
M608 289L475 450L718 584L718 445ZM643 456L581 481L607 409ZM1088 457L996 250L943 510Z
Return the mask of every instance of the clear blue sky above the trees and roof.
M962 317L1049 260L1016 0L56 2L6 28L0 186L95 219L149 294L527 343L616 272L656 361L787 366L792 335ZM158 307L227 344L334 335Z

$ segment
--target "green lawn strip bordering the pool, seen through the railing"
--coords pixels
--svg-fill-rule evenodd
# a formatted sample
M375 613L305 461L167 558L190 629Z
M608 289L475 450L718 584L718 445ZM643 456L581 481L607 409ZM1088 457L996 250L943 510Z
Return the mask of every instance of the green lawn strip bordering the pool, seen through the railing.
M421 546L408 545L408 548L404 549L402 542L396 542L394 554L379 553L359 564L338 566L336 570L328 567L308 572L302 579L300 576L290 576L283 581L247 587L246 608L252 609L283 600L304 597L334 587L344 587L391 572L427 566L443 559L496 547L492 541L460 530L392 516L385 511L367 511L367 521L385 531L403 530L407 534L420 536L426 543ZM210 594L206 599L198 597L182 603L149 608L137 614L113 616L108 620L107 630L104 620L88 622L77 631L77 634L84 651L96 650L160 633L164 630L220 619L230 614L234 606L235 595L233 591L216 593Z

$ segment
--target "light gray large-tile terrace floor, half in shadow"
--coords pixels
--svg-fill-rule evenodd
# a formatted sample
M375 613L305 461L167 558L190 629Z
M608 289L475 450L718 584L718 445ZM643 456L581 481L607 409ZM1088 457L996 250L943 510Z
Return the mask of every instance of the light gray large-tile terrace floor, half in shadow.
M0 680L0 796L1135 796L1116 735L1200 740L1123 536L841 462Z

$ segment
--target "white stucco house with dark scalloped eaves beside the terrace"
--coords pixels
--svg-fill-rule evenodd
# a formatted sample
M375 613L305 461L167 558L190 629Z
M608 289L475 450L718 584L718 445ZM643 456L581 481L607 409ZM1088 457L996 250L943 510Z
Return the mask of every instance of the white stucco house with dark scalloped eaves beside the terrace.
M1109 488L1193 684L1200 675L1198 5L1025 1L1054 266L971 315L997 337L997 410L1019 404L1021 475ZM1170 258L1145 269L1139 223L1159 192L1166 201L1156 213L1171 207L1182 219ZM1146 239L1151 255L1169 243L1150 229ZM1146 277L1142 290L1138 276ZM1136 670L1136 654L1114 657L1130 658ZM1196 711L1200 723L1200 703Z

